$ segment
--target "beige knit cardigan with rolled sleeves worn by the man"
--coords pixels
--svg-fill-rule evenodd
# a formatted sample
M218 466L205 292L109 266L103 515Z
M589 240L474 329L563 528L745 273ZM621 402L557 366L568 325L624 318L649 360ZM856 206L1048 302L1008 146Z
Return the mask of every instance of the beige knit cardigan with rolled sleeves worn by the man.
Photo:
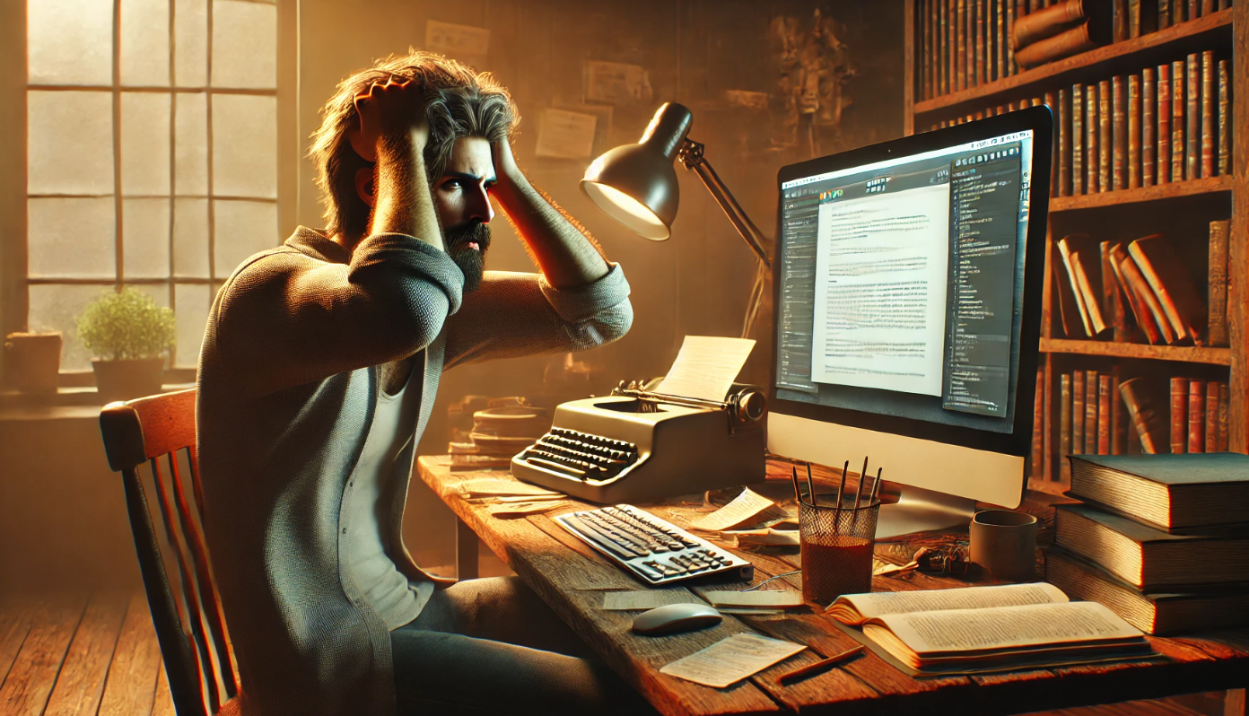
M407 390L421 391L420 415L376 510L402 545L412 451L443 370L595 347L632 322L620 266L572 289L498 271L467 296L445 252L411 236L370 236L348 254L300 227L217 292L196 420L205 532L244 690L222 712L395 712L390 632L351 580L340 529L377 366L416 355ZM400 572L427 582L401 551Z

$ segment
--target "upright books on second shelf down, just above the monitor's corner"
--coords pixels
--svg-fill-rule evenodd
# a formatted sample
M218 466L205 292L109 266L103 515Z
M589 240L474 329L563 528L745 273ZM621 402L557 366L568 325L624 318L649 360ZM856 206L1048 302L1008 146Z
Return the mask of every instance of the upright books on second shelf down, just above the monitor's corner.
M1213 50L933 125L1029 105L1054 112L1050 195L1077 196L1232 174L1230 62Z

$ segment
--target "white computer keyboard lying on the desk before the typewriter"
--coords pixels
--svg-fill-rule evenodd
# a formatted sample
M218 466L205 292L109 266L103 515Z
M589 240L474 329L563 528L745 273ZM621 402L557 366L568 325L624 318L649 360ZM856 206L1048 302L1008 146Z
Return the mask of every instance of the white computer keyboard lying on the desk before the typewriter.
M751 562L632 505L570 512L555 521L648 585L707 575L741 581L754 576Z

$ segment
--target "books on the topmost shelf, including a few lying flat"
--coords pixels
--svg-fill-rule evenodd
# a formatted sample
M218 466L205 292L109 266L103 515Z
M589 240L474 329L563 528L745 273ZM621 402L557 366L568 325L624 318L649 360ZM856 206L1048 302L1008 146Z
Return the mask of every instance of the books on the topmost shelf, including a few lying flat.
M921 100L1148 35L1230 0L918 0Z

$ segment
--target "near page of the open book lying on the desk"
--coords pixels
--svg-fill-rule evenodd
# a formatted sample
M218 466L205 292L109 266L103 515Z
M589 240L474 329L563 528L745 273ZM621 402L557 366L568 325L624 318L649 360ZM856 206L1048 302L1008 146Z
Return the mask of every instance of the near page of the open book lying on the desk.
M1092 601L894 614L874 621L921 656L1142 637Z

